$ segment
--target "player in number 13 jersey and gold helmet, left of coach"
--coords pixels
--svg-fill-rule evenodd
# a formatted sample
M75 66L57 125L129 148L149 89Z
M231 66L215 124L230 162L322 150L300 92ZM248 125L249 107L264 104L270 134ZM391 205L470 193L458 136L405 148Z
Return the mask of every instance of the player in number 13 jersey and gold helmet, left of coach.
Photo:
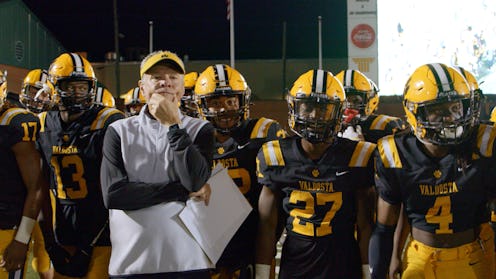
M95 105L95 73L79 54L61 54L48 74L58 111L39 116L39 145L49 165L52 201L40 223L45 246L55 278L107 278L110 239L99 179L102 144L108 125L124 115Z

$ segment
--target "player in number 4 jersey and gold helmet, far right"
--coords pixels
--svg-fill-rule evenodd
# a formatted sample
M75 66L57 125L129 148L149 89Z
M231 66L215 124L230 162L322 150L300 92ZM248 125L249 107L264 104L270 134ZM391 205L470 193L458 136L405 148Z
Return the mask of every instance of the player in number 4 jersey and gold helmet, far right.
M372 278L388 273L401 206L412 236L402 278L494 278L494 234L487 224L496 197L496 131L474 125L473 102L466 79L444 64L422 65L408 79L403 107L411 132L380 139L375 153Z

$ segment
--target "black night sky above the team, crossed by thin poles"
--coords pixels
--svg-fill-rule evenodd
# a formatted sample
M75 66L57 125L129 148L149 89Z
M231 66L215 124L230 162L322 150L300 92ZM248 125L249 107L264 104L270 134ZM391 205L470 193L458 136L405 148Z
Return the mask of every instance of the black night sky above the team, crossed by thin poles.
M23 0L68 51L103 61L114 50L112 0ZM154 49L190 60L229 59L225 0L117 1L119 49L124 60L148 52L149 21ZM324 58L347 55L344 0L235 0L236 59L280 59L286 21L286 57L317 58L318 21L323 17Z

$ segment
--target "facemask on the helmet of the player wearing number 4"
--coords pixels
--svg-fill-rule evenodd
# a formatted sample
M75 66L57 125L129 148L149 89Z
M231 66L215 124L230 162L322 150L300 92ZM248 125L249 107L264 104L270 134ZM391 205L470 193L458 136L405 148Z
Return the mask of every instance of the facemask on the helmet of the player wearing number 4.
M464 142L473 127L471 98L443 98L424 103L405 103L416 118L417 138L435 145L456 145Z

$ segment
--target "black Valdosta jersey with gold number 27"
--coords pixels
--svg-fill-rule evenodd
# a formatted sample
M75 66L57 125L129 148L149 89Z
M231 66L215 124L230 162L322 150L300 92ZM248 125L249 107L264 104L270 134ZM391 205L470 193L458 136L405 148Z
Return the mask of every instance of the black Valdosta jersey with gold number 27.
M315 239L353 235L356 190L373 186L375 144L337 138L317 161L304 155L299 137L267 142L258 153L258 180L282 192L286 230Z

